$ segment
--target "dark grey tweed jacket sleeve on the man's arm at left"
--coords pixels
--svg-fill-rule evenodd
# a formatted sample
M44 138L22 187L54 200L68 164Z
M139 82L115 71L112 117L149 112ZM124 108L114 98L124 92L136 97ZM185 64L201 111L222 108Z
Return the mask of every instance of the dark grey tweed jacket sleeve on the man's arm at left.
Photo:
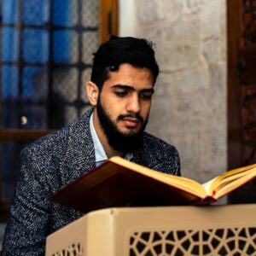
M42 166L40 158L33 156L29 149L23 150L20 179L10 208L2 255L44 255L50 203Z

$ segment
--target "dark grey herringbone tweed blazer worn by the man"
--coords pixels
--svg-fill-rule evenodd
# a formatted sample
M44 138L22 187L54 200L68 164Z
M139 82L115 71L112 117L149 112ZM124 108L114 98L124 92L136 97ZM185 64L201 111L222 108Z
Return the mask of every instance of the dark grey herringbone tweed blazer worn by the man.
M82 212L53 203L48 197L95 167L91 113L92 109L73 124L22 150L20 178L2 255L44 255L46 236L83 216ZM180 175L176 148L147 132L143 134L143 147L134 152L131 160L160 172Z

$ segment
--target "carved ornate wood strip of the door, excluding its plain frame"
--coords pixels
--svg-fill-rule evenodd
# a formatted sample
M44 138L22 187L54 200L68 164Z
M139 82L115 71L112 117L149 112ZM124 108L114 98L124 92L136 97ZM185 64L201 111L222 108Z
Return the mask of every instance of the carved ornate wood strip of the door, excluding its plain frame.
M256 161L256 1L242 1L241 145L242 164ZM255 57L254 57L255 56Z

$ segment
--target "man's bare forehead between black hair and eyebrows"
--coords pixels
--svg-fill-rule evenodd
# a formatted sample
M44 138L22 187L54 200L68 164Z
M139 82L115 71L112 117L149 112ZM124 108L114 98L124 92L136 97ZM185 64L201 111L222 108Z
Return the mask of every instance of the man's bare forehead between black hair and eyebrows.
M109 72L109 77L104 85L115 84L130 85L137 89L154 87L154 77L151 71L145 67L134 67L130 64L121 64L118 71Z

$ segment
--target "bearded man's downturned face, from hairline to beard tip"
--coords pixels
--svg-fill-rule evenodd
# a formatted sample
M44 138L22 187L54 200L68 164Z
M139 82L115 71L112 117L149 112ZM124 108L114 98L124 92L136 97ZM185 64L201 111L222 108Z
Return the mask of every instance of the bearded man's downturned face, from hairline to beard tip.
M148 121L153 86L153 76L146 68L122 64L118 71L109 73L96 110L113 148L131 150L139 143Z

